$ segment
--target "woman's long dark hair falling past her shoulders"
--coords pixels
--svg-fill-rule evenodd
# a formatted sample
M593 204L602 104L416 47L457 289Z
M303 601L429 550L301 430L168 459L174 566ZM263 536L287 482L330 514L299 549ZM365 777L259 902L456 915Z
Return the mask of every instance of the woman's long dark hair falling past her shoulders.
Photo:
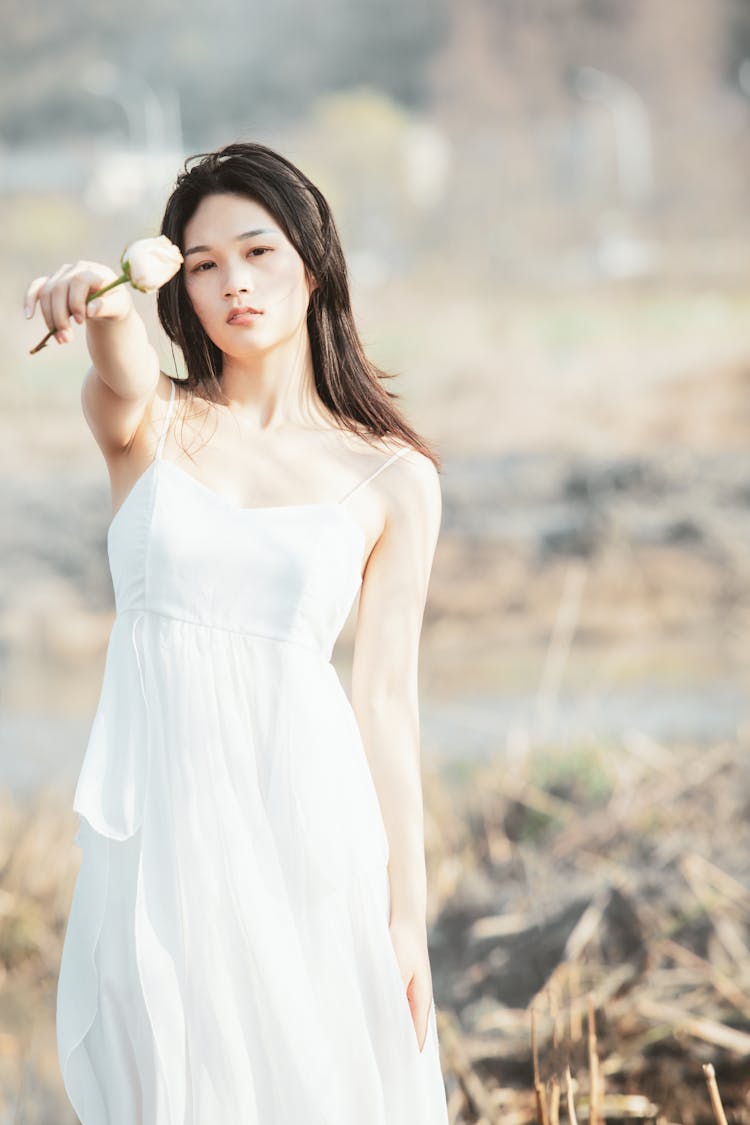
M188 168L191 161L199 161ZM331 208L315 184L284 156L262 144L237 142L217 152L188 156L162 219L161 233L184 253L184 228L200 201L232 192L259 202L279 223L317 281L307 312L315 386L326 408L344 429L368 438L400 438L428 457L437 470L440 456L394 405L400 395L382 381L392 379L376 367L360 341L349 292L346 261ZM159 290L159 320L184 357L191 394L226 402L222 389L222 351L206 334L184 286L181 269Z

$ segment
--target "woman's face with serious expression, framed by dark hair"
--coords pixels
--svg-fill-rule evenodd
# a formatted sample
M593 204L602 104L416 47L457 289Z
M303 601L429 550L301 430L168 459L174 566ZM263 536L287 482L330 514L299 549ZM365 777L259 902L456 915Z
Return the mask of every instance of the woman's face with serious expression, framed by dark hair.
M227 356L268 350L306 323L305 263L260 204L206 196L184 228L184 285L205 332ZM314 288L314 286L313 286ZM234 324L234 308L257 309Z

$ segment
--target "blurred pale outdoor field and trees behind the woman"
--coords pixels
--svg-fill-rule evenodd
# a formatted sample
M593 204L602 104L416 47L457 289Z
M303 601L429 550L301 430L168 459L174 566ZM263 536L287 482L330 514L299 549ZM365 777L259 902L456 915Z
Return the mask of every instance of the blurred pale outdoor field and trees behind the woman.
M3 10L0 1125L74 1119L54 996L114 612L85 331L30 357L22 296L115 267L236 140L328 198L365 348L444 461L421 702L451 1120L541 1113L540 998L549 1112L564 1042L595 1118L587 994L606 1116L638 1116L616 1089L701 1120L710 1060L750 1120L750 4Z

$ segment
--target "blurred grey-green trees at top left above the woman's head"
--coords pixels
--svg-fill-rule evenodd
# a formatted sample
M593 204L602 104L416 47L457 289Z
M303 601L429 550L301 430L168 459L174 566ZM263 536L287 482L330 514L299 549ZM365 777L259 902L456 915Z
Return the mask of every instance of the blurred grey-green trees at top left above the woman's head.
M7 0L0 45L0 133L10 143L121 124L76 97L85 62L138 69L181 96L189 147L275 128L319 92L370 84L407 106L428 97L426 68L444 37L449 0L132 0L125 7Z

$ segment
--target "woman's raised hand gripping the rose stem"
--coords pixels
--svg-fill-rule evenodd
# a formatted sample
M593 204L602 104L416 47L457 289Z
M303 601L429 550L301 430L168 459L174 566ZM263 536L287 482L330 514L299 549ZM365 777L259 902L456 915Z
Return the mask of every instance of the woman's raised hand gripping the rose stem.
M120 321L128 316L133 298L127 286L116 286L87 305L89 294L97 292L117 277L108 266L99 262L66 263L52 277L31 281L24 297L24 310L30 320L38 300L49 335L54 335L57 343L67 343L72 339L71 317L83 324L84 321Z

